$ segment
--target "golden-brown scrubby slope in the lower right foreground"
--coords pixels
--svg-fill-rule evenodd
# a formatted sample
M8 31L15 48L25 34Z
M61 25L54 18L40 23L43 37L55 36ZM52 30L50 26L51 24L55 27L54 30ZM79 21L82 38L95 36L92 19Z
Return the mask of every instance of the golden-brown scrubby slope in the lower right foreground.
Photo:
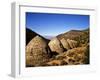
M89 61L87 55L87 47L77 47L57 55L56 59L63 60L68 65L87 64L87 61Z

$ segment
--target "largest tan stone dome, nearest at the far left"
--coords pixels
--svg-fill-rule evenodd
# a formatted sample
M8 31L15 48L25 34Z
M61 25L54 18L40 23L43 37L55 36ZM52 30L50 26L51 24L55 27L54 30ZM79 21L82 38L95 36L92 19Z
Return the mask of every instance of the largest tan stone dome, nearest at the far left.
M34 37L26 46L26 66L41 66L49 60L48 45L40 37Z

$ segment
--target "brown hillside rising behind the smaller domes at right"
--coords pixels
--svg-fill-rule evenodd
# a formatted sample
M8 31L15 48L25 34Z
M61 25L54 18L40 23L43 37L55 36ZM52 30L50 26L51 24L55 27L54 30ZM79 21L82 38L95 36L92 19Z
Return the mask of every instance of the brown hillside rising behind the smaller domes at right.
M79 43L88 43L89 42L89 29L85 30L71 30L69 32L66 32L64 34L60 34L57 36L59 40L61 39L70 39L70 40L76 40Z

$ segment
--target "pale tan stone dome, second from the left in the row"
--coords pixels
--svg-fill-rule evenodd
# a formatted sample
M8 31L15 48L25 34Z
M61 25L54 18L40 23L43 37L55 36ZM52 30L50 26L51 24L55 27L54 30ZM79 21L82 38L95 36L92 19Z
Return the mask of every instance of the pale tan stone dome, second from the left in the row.
M61 43L57 38L53 38L49 42L48 45L49 45L52 52L57 52L58 54L63 52L63 48L61 47Z

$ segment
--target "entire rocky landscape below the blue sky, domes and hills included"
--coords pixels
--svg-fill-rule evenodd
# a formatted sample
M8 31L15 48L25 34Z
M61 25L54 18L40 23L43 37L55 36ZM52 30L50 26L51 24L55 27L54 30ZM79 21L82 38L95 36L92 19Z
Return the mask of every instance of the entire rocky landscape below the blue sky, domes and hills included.
M26 29L26 67L89 64L89 29L48 40Z

